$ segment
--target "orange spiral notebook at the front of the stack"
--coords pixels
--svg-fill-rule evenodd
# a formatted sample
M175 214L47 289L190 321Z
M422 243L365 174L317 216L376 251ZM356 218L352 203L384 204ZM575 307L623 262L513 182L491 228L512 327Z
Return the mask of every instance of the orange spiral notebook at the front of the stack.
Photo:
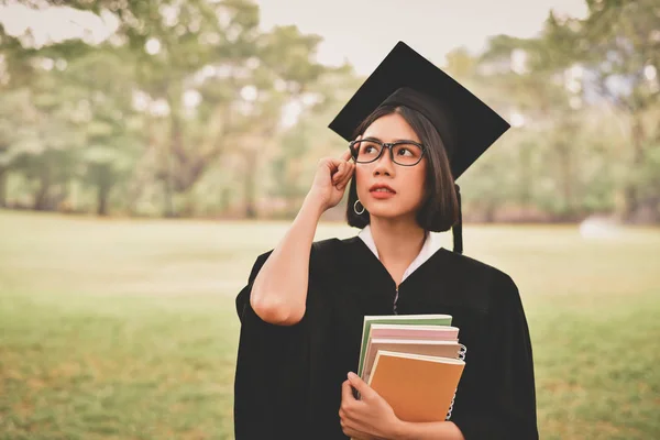
M405 421L442 421L465 362L378 350L369 385Z

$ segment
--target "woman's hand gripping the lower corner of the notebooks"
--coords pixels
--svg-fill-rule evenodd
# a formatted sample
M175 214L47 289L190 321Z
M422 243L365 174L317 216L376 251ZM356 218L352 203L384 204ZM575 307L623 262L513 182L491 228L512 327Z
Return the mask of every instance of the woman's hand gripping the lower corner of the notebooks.
M360 400L351 385L360 392ZM342 384L339 417L344 435L353 439L392 439L399 424L389 404L354 373Z

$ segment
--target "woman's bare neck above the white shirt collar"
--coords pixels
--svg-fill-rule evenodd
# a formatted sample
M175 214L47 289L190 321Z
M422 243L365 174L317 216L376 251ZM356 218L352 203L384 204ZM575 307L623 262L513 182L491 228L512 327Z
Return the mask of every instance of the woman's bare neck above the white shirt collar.
M410 263L421 251L426 231L417 221L378 219L372 216L370 228L383 262Z

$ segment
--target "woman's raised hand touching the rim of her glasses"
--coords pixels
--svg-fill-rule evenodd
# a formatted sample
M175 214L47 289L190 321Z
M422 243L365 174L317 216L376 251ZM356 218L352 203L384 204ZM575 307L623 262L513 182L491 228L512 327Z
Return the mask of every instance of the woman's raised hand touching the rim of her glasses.
M355 170L355 164L350 160L351 150L346 150L339 158L323 157L319 161L307 197L321 204L323 211L337 206L341 200L344 189Z

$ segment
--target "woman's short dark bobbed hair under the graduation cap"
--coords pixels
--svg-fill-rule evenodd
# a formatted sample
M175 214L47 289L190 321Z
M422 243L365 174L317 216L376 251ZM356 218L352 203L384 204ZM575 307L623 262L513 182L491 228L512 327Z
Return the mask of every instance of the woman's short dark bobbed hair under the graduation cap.
M459 219L459 202L444 144L438 130L428 118L405 106L381 106L362 121L353 133L353 139L363 134L376 119L392 113L400 114L415 130L426 147L425 155L428 163L426 194L425 202L417 211L417 223L428 231L447 231ZM350 226L362 229L369 224L370 215L366 210L362 215L356 215L353 210L355 200L358 200L358 188L355 178L352 178L349 188L346 220Z

